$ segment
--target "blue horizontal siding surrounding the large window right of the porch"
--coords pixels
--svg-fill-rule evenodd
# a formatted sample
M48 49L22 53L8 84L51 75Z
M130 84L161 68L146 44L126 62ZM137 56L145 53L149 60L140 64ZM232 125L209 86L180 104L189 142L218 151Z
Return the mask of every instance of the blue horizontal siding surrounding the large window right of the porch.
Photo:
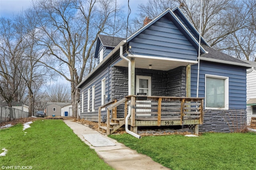
M196 97L198 65L191 66L191 97ZM229 78L229 109L246 109L246 68L201 61L198 97L204 97L205 74Z

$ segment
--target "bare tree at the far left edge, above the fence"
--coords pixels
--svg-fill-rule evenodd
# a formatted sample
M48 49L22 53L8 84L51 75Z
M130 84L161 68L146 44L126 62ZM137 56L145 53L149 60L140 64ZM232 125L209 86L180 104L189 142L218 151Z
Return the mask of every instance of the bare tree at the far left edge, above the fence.
M26 91L22 79L22 55L26 43L22 28L17 23L0 18L0 93L12 107L12 101L20 101Z

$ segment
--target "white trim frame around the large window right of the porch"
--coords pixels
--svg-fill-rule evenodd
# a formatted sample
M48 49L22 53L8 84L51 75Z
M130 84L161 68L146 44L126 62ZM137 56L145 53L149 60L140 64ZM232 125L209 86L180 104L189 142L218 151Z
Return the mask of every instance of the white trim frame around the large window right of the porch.
M206 107L206 102L204 102L204 108L205 109L214 109L214 110L228 110L229 107L229 78L225 77L225 76L216 76L216 75L211 75L211 74L205 74L205 78L204 78L204 98L206 99L206 78L219 78L219 79L224 79L224 88L225 88L225 107L222 108L217 108L217 107Z

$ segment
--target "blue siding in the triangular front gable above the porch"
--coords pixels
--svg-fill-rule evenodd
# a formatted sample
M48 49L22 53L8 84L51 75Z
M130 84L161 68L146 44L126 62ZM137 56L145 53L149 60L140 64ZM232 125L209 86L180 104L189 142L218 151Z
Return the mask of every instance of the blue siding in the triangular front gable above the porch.
M197 59L197 49L167 16L142 31L129 45L136 55Z

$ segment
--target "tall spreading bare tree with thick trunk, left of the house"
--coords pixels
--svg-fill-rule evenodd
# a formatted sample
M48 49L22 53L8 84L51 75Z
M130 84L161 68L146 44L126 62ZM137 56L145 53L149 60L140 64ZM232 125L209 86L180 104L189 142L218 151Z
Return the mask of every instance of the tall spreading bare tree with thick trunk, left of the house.
M38 40L50 51L42 63L70 81L75 116L80 96L75 87L84 77L97 35L118 31L120 28L114 29L112 19L115 14L122 16L122 11L114 0L38 0L34 10L42 35Z

